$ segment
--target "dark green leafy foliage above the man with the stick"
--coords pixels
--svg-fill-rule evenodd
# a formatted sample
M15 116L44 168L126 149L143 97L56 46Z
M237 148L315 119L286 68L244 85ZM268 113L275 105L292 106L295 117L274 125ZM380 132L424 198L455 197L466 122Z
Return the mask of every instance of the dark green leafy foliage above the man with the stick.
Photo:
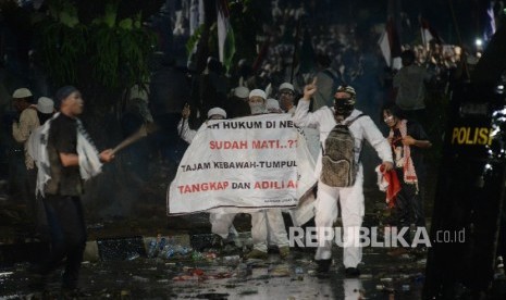
M41 57L55 85L91 79L113 90L149 77L156 36L141 27L141 12L119 21L118 5L110 2L102 15L81 24L72 2L49 2L51 17L40 27Z

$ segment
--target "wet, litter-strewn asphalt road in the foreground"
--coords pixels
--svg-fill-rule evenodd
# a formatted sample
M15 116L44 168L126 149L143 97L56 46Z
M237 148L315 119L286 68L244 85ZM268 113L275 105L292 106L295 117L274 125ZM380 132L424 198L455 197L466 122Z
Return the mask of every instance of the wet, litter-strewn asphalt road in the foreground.
M366 248L360 277L345 278L342 251L334 250L328 277L316 276L312 254L299 251L288 260L271 253L266 262L209 252L85 262L78 299L421 299L423 254L392 258ZM58 273L44 290L32 287L28 266L0 270L0 299L70 298L61 295Z

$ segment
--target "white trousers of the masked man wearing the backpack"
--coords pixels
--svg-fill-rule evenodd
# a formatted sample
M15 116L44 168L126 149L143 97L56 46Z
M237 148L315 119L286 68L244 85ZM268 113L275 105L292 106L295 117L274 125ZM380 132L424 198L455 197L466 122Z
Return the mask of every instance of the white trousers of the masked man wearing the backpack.
M325 230L334 232L333 224L337 218L337 201L341 204L343 220L343 264L345 267L357 267L362 260L360 232L363 205L363 172L360 167L355 185L346 188L330 187L318 183L318 195L314 203L314 223L317 225L318 249L316 260L329 260L332 257L332 243ZM351 227L351 228L350 228Z

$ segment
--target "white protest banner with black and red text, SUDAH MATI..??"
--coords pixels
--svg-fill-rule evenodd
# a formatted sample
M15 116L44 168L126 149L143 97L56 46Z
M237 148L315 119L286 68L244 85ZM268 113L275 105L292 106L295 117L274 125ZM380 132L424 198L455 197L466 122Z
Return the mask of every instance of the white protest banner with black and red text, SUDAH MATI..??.
M313 170L289 114L209 121L169 187L168 214L293 208L314 185Z

